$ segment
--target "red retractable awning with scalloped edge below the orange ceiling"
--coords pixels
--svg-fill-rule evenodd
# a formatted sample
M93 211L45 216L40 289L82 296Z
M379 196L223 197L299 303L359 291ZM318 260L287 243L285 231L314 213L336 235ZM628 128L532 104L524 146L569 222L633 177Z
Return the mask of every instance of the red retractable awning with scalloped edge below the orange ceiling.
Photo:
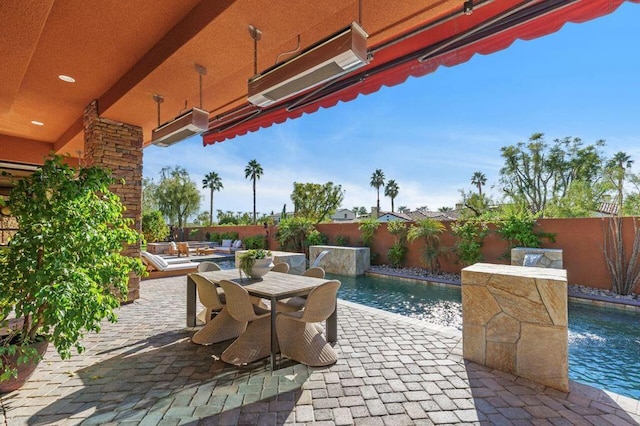
M268 108L247 102L210 121L203 144L244 135L274 123L350 101L360 94L395 86L410 76L420 77L439 66L454 66L473 55L487 55L509 47L517 39L531 40L558 31L567 22L580 23L607 15L625 0L500 0L475 1L471 15L462 10L426 23L397 40L370 49L369 65L320 89ZM640 3L640 0L627 0ZM461 2L462 3L462 2Z

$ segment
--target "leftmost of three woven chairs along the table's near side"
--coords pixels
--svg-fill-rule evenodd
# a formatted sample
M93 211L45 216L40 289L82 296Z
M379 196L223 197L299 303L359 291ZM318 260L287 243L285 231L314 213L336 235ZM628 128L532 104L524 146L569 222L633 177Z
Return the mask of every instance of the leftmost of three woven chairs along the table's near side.
M190 274L189 277L196 283L198 297L203 305L205 305L206 321L196 334L193 335L191 341L199 345L212 345L214 343L223 342L229 339L235 339L247 329L246 321L236 321L226 308L226 297L222 289L198 274ZM211 319L211 312L219 311L218 314Z

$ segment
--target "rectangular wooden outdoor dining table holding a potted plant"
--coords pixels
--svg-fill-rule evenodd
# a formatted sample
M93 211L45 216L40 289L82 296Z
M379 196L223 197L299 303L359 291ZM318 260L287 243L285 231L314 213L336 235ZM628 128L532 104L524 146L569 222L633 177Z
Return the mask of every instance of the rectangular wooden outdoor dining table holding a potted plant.
M229 280L242 285L249 295L269 299L271 301L271 368L276 366L278 336L276 334L276 303L280 299L293 296L307 295L314 288L327 280L324 278L305 277L302 275L268 272L262 278L240 278L238 269L222 271L199 272L215 284L221 280ZM196 326L196 284L187 276L187 327ZM326 321L327 341L335 343L338 340L338 310L333 311Z

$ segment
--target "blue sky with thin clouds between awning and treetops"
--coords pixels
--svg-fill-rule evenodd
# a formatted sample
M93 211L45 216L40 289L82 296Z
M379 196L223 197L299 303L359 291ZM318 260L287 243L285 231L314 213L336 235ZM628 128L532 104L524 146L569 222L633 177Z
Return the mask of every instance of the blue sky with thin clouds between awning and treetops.
M369 185L375 169L400 187L398 206L453 207L471 176L487 176L494 196L502 166L500 148L542 132L606 141L609 155L625 151L640 165L640 5L452 68L382 88L259 132L202 146L194 137L144 151L144 176L158 180L164 166L181 165L201 187L216 171L224 189L214 211L252 210L247 163L264 169L257 210L288 209L293 182L332 181L346 190L343 207L376 204ZM206 106L206 99L205 99ZM209 209L202 190L201 211ZM381 208L391 209L383 197Z

